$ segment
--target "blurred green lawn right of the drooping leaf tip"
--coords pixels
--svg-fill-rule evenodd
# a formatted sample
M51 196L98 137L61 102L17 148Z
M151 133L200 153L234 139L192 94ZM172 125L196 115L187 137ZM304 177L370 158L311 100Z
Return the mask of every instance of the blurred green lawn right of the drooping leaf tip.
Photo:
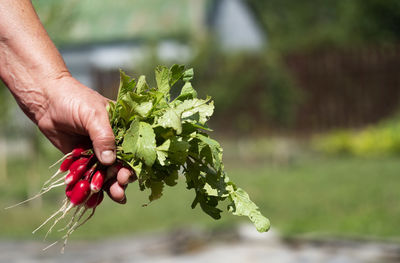
M285 235L400 237L398 159L309 158L233 170Z

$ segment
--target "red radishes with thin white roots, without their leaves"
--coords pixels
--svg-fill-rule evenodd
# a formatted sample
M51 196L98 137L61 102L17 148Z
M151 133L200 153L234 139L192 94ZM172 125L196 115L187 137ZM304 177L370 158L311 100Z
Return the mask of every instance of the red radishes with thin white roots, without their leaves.
M33 231L35 233L54 218L53 224L46 234L47 237L54 226L75 208L69 223L61 229L66 230L66 234L63 236L65 246L69 235L93 216L96 207L103 201L104 191L108 191L106 183L117 174L123 164L117 160L112 166L104 166L97 160L92 149L83 148L75 148L56 164L59 162L61 162L60 168L43 184L38 194L8 208L33 200L53 188L65 186L66 198L61 208ZM132 171L132 173L134 172ZM84 218L88 210L91 210L91 213Z

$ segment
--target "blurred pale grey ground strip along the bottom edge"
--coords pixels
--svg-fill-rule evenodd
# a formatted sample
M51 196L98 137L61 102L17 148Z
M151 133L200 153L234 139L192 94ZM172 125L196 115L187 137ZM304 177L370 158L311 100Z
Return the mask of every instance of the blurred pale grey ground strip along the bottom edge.
M1 263L392 263L400 262L400 245L354 241L283 241L276 232L265 235L251 226L210 234L180 230L163 234L71 242L65 254L59 246L0 241Z

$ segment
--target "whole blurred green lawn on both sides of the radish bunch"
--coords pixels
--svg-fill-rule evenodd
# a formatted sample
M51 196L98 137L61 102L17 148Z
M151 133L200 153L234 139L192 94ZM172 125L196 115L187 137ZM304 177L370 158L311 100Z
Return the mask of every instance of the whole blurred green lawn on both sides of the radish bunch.
M400 160L396 158L300 155L279 164L261 155L247 161L239 155L227 156L230 178L246 189L269 217L272 227L286 236L400 237ZM47 163L35 162L42 181L49 175ZM29 162L10 165L15 173L1 183L2 207L26 197L27 178L31 176L27 173ZM30 181L39 188L39 180ZM147 207L142 204L147 202L148 193L140 192L132 184L127 190L126 205L107 199L95 217L74 233L74 238L128 235L193 225L219 229L247 222L228 213L215 221L200 208L192 210L194 195L184 188L183 179L179 183L180 186L167 187L164 196ZM62 196L60 189L46 196L42 205L32 203L0 210L0 238L41 239L44 231L35 236L30 233L57 208ZM52 237L59 236L58 233Z

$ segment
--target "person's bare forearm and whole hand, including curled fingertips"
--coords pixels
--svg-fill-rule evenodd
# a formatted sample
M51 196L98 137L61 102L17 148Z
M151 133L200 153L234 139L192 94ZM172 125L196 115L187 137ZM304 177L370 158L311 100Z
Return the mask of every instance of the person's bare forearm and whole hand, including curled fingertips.
M30 0L0 1L0 78L25 114L63 153L93 145L104 165L115 162L108 99L74 79L42 26ZM109 196L126 203L134 176L121 168Z

